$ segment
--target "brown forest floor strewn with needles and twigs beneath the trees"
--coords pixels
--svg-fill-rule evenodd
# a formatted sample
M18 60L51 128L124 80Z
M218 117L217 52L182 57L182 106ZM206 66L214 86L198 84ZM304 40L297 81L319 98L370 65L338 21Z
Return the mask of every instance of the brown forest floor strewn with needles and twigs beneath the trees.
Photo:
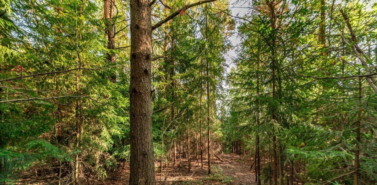
M204 156L203 156L204 157ZM255 174L249 172L252 160L248 156L239 156L236 154L222 154L219 156L224 162L217 158L212 159L212 173L208 175L207 160L203 158L203 169L201 169L200 156L199 165L196 156L192 156L191 171L188 170L188 162L181 159L181 169L179 168L179 159L175 167L169 168L164 164L162 176L160 173L160 163L156 162L156 183L159 185L177 184L177 185L254 185ZM167 170L168 169L168 170ZM168 172L168 174L167 174ZM32 172L23 174L23 177L16 184L22 185L49 185L57 184L56 174L45 174L42 176L32 175ZM35 174L35 173L34 173ZM167 175L166 175L167 174ZM90 185L126 185L129 180L129 163L125 162L113 173L110 173L106 180L98 181L91 179L83 184ZM63 183L64 184L64 183Z

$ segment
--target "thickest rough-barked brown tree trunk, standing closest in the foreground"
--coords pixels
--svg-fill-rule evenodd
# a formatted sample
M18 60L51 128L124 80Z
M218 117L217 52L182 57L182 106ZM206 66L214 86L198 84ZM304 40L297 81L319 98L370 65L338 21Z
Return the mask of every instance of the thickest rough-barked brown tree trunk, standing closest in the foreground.
M130 185L155 185L152 142L151 7L131 0Z

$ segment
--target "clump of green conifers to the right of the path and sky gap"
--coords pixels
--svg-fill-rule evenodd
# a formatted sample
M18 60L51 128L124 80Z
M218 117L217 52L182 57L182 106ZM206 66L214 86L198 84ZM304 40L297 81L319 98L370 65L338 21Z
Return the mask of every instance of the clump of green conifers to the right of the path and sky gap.
M257 183L375 183L375 5L250 6L226 125L255 151Z

